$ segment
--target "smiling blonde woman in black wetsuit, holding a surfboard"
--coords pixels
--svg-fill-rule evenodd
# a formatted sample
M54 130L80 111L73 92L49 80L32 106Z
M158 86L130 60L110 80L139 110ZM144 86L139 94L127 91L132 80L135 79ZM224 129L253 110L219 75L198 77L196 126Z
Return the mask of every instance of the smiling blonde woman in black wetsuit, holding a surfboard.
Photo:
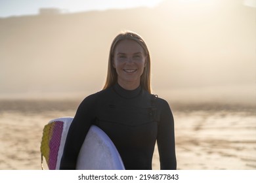
M136 33L120 33L112 42L106 84L79 105L60 169L75 169L92 124L112 139L125 169L152 169L156 141L161 169L176 169L173 114L165 100L151 94L150 54Z

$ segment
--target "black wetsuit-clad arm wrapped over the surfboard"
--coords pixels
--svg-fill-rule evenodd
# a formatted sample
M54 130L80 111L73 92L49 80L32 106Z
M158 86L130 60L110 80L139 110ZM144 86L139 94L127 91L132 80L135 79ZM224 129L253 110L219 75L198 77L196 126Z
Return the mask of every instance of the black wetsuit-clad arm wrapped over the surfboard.
M92 95L91 95L92 96ZM68 130L66 143L60 161L60 169L75 169L77 156L89 131L89 127L95 120L93 104L94 97L85 98L77 108L74 120Z

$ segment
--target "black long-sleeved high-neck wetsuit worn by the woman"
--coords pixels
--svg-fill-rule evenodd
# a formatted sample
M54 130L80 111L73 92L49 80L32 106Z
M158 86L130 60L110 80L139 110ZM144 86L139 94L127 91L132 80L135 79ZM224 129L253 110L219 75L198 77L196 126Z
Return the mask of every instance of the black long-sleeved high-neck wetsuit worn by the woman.
M77 155L91 124L116 145L125 169L152 169L156 140L161 169L176 169L173 114L168 103L142 90L118 84L89 95L70 125L60 169L75 169Z

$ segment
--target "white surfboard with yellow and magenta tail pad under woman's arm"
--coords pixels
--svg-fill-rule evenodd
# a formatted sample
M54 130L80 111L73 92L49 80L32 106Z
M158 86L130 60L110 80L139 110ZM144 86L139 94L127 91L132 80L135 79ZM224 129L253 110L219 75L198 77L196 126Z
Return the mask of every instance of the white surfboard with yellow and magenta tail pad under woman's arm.
M60 169L68 129L73 117L56 118L45 125L41 141L41 166L43 157L49 169ZM96 125L92 125L77 156L76 169L124 170L123 161L111 139Z

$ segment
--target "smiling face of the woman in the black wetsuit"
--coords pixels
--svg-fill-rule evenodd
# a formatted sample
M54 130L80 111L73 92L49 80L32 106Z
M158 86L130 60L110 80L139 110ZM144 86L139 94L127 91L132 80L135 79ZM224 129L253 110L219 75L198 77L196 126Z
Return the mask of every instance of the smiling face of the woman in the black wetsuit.
M135 90L140 85L140 76L146 67L146 56L142 46L136 41L119 41L114 50L113 67L117 82L127 90Z

